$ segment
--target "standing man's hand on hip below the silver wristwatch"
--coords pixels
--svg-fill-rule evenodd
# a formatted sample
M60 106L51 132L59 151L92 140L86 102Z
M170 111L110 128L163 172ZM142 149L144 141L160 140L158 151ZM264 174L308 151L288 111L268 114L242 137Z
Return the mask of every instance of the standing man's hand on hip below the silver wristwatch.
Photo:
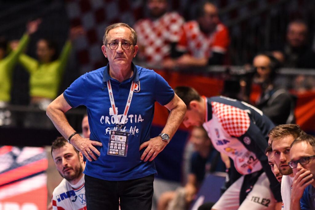
M140 150L146 147L140 159L144 162L152 161L167 145L166 141L163 141L161 137L157 136L149 141L144 142L140 145Z

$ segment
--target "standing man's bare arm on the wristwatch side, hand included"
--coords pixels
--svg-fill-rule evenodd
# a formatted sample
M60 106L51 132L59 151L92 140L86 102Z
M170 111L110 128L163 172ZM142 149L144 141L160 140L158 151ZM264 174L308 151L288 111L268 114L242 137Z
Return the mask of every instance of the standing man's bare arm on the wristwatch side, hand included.
M184 115L186 113L185 103L175 94L174 98L165 105L165 107L170 111L169 117L165 127L162 130L162 133L169 134L169 139L172 139L177 128L182 122ZM141 156L141 160L152 161L158 153L160 153L165 146L167 145L166 141L163 141L161 137L157 136L149 141L144 142L140 145L140 150L144 147L147 147Z

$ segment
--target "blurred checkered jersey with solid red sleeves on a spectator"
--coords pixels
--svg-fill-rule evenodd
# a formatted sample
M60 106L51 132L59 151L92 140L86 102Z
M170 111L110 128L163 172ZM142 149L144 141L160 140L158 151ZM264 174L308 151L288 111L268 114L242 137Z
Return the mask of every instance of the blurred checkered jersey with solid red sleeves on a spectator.
M229 31L222 23L212 33L205 34L197 21L188 21L181 34L177 49L187 51L195 58L210 58L212 52L225 54L230 44Z

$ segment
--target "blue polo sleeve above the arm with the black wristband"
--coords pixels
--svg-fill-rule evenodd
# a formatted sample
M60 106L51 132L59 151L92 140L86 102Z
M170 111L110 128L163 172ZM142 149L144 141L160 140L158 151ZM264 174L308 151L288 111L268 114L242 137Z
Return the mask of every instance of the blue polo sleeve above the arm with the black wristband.
M63 93L63 96L72 108L75 108L79 105L85 105L87 94L86 75L87 74L84 74L77 78Z

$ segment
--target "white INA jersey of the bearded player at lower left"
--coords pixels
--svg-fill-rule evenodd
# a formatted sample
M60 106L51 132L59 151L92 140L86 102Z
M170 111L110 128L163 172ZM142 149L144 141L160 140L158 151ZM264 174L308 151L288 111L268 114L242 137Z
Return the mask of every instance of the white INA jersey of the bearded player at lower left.
M63 179L54 189L52 204L54 210L86 210L84 175L75 185Z

